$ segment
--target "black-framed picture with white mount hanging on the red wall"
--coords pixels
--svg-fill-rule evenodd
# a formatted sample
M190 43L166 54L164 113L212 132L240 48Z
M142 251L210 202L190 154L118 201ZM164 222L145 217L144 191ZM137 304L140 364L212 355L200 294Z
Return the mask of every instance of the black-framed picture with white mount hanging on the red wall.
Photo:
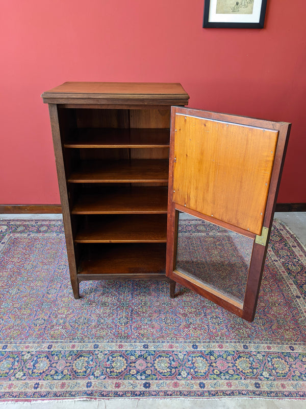
M267 0L205 0L203 27L264 28Z

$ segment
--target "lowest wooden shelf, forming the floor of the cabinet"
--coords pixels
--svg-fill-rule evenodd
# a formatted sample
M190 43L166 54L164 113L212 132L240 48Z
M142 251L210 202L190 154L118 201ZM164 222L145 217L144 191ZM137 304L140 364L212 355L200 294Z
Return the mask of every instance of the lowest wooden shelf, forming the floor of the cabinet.
M165 265L166 244L84 244L78 280L162 278Z

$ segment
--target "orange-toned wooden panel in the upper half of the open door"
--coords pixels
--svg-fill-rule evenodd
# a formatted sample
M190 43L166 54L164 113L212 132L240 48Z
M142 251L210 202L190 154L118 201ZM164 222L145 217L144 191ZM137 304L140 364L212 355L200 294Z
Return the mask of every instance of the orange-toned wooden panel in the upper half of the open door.
M278 131L184 114L175 123L174 202L261 235Z

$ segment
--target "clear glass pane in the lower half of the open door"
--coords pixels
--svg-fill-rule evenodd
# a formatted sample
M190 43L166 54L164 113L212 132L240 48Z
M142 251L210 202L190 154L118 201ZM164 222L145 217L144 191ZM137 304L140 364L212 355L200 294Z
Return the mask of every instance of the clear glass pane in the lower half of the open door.
M253 239L179 212L176 269L243 302Z

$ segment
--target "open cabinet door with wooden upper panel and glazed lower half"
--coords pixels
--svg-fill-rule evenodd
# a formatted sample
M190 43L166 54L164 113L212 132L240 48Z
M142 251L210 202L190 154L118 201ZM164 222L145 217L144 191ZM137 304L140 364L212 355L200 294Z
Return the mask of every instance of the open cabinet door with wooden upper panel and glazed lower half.
M254 319L290 124L172 107L169 279Z

